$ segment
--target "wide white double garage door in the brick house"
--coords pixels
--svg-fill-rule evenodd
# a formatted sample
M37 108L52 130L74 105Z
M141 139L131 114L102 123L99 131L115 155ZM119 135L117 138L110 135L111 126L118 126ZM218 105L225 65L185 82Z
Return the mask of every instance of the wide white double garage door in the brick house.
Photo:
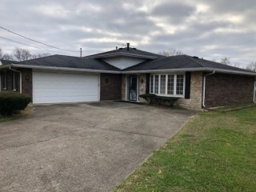
M98 77L33 71L33 103L99 101Z

